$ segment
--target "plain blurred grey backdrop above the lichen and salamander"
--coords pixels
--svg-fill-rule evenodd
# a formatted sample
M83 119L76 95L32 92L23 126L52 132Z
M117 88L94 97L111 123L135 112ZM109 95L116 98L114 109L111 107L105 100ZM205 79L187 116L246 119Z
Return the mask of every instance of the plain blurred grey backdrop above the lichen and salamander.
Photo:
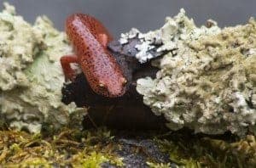
M0 7L3 8L3 0ZM33 22L38 15L46 14L59 30L63 30L68 14L94 15L108 27L114 36L137 27L141 31L159 28L166 16L185 8L197 25L207 19L218 25L237 25L256 15L256 0L9 0L17 13Z

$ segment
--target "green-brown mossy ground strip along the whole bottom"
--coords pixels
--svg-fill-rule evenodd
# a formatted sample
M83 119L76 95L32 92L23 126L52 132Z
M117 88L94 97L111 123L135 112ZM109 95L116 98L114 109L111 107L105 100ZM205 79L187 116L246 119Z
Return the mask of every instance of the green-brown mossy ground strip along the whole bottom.
M138 134L137 134L138 133ZM253 167L256 165L255 137L242 140L231 135L207 137L189 132L117 132L106 128L87 131L64 129L55 135L2 130L0 163L3 167L100 167L108 163L125 166L119 139L147 139L156 144L168 160L160 163L148 148L132 143L134 154L143 154L149 167ZM132 134L132 136L131 136ZM136 135L137 134L137 135ZM125 136L124 136L125 135ZM135 136L134 136L135 135ZM147 145L146 145L147 146ZM105 165L108 166L108 165Z

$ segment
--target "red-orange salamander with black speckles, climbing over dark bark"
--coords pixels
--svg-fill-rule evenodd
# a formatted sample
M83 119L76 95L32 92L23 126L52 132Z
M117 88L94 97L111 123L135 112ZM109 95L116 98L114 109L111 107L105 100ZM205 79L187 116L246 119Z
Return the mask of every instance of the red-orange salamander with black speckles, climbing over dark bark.
M70 63L77 63L94 92L109 98L122 96L126 79L108 51L108 42L113 38L102 23L87 14L73 14L67 18L66 32L76 54L61 57L66 78L74 80Z

